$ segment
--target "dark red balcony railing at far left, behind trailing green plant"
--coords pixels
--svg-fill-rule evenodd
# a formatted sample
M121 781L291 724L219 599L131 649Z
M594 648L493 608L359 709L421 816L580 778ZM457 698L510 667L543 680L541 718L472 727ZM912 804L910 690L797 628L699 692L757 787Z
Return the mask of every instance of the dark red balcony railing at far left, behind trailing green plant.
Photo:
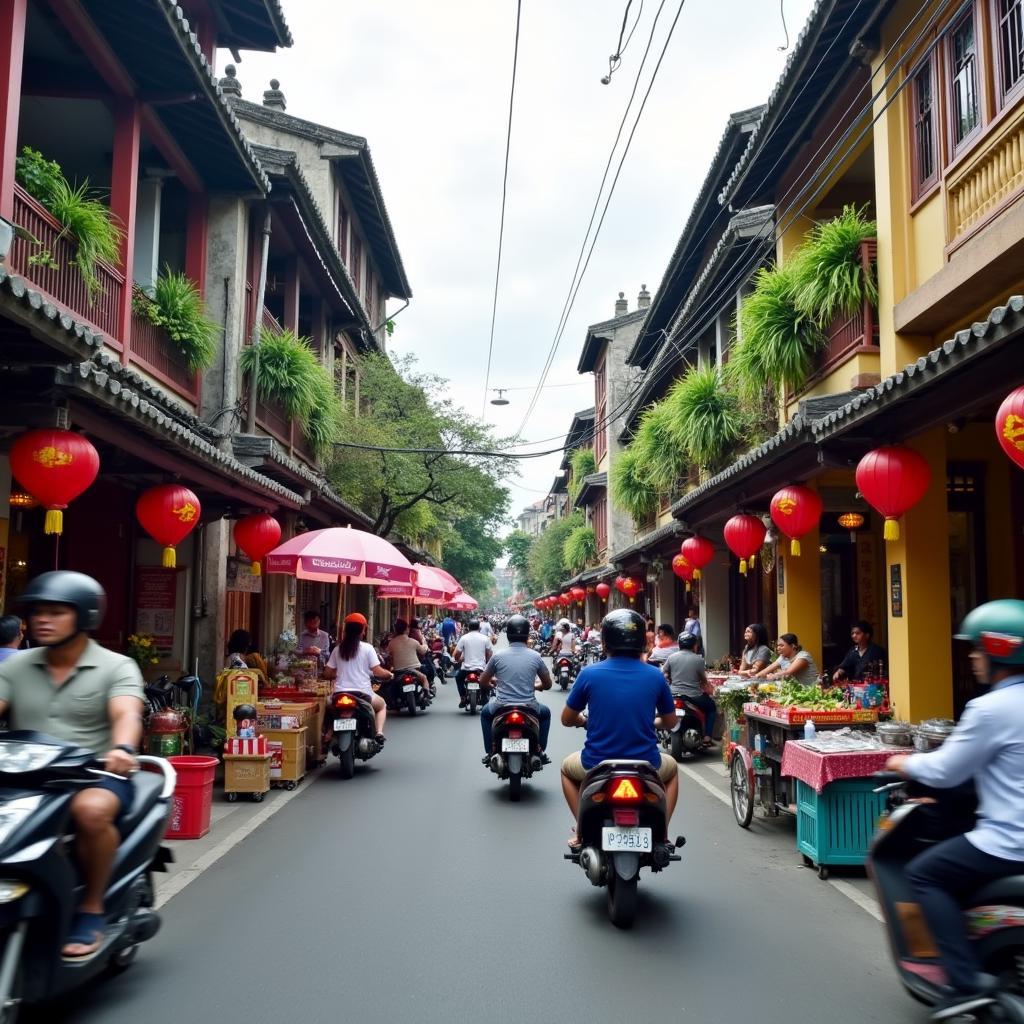
M38 242L15 239L8 257L11 267L33 287L45 292L54 304L92 325L114 348L121 348L124 339L119 337L118 312L124 295L124 276L114 267L97 263L100 290L90 299L85 282L72 262L74 239L62 234L60 223L17 184L14 185L14 223ZM33 264L33 257L44 251L49 252L53 266Z

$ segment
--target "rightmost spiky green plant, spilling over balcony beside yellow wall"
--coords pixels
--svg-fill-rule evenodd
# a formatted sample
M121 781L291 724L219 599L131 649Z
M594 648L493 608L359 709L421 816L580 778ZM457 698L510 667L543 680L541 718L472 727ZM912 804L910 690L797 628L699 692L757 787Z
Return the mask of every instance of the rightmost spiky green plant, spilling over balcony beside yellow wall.
M860 262L861 243L878 234L878 224L865 217L864 209L846 206L840 216L816 224L794 254L797 308L822 328L837 316L853 315L865 298L879 301L874 268L865 274Z

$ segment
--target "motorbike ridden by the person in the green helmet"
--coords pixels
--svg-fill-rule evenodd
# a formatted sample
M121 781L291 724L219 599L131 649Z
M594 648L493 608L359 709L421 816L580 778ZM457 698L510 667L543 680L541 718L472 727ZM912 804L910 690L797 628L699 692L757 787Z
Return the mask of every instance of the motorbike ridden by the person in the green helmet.
M932 790L885 772L876 778L876 793L887 794L887 811L871 842L867 871L900 982L919 1002L935 1006L945 995L945 972L906 866L936 842L970 830L976 801L963 787ZM935 803L914 802L921 798ZM965 903L964 914L982 971L998 981L971 1015L985 1024L1024 1024L1024 873L981 886Z

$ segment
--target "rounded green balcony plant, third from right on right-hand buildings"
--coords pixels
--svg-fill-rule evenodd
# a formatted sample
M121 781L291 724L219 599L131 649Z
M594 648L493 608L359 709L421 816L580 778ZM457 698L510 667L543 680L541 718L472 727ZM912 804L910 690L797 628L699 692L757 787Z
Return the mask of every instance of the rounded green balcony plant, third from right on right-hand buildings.
M714 470L743 438L745 417L716 367L691 367L664 403L671 445Z

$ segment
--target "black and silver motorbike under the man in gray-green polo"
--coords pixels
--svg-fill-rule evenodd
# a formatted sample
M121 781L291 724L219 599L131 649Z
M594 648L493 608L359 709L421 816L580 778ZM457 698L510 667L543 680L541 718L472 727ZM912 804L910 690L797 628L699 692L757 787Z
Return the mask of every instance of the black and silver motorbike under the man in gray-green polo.
M102 945L87 959L65 961L60 949L83 890L67 835L71 802L109 773L95 754L74 743L40 732L0 736L0 1024L13 1022L24 1004L125 970L159 931L153 874L173 860L162 842L175 772L163 758L138 760L147 770L132 776L132 805L118 823Z

